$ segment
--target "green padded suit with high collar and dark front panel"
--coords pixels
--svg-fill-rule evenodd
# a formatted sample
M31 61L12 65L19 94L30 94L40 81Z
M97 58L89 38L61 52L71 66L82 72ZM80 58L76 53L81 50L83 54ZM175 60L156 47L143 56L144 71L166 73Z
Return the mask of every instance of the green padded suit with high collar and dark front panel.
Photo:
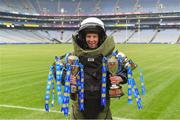
M115 43L112 37L106 37L105 41L97 49L83 49L77 43L77 36L73 36L74 54L79 57L84 65L84 111L79 111L78 100L73 99L71 119L112 119L110 111L109 86L107 77L106 107L101 105L101 67L103 56L111 55ZM109 73L107 73L107 76Z

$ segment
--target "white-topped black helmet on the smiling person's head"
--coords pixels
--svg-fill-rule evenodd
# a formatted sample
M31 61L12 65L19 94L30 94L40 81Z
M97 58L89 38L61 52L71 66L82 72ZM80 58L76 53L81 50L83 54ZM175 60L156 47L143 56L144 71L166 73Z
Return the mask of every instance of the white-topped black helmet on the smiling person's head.
M99 35L98 46L100 46L106 38L103 21L96 17L89 17L84 19L80 23L80 28L78 31L79 40L77 41L77 43L80 45L81 48L87 48L87 43L85 41L85 36L87 33L97 33Z

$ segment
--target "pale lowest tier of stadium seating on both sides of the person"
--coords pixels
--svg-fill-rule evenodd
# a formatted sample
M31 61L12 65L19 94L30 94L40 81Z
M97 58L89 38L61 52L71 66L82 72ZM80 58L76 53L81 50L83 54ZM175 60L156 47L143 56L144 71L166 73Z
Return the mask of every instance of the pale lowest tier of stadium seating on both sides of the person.
M71 43L75 31L55 30L0 30L0 44L16 43ZM169 30L108 30L116 43L179 43L180 31Z

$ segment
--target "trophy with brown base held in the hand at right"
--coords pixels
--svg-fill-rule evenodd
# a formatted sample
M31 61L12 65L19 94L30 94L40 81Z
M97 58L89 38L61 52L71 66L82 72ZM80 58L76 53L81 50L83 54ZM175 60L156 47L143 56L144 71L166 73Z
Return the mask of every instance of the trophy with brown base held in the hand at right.
M107 61L107 66L111 76L115 76L118 72L118 59L115 56L111 56ZM112 84L109 90L109 95L111 98L120 98L124 95L122 87Z

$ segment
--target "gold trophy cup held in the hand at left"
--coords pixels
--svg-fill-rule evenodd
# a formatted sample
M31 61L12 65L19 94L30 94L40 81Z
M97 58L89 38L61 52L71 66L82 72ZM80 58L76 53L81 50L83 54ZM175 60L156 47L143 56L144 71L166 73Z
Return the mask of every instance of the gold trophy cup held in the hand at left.
M71 74L76 77L77 73L79 72L79 59L77 56L70 55L68 57L68 63L71 65ZM71 84L71 93L74 94L77 91L77 85Z

